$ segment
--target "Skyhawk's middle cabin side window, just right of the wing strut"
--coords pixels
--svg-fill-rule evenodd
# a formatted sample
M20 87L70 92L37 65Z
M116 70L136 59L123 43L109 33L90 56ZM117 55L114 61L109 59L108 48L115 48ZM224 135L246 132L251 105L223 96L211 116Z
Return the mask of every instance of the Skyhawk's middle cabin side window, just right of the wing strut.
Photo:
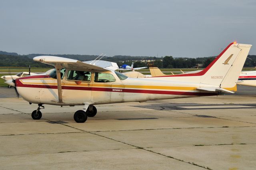
M92 72L69 70L67 80L90 82Z

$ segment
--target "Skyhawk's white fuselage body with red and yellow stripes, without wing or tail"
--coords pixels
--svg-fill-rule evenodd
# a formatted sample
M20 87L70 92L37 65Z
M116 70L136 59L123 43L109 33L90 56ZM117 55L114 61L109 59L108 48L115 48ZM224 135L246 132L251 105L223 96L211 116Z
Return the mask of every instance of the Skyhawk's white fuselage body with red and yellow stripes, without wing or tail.
M114 77L112 82L108 82L106 79L96 81L94 72L92 72L90 80L87 81L68 80L68 71L66 70L61 80L63 102L58 102L57 79L50 77L50 75L18 78L16 88L18 93L28 102L60 106L84 105L84 102L108 104L218 94L217 92L196 90L200 87L200 83L144 78L120 80L117 74L112 71L104 72L104 74L111 74Z

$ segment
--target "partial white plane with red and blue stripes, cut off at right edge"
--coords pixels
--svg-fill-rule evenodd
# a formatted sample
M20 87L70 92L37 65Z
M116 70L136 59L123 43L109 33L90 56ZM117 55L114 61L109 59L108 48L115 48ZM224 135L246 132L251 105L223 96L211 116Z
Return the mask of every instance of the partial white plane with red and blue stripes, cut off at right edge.
M241 72L237 84L256 87L256 71Z

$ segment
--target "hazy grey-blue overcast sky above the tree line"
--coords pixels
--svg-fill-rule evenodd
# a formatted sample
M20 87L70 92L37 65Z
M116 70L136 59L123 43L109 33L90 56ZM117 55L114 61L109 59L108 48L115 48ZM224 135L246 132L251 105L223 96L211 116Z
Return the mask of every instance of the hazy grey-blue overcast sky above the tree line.
M0 0L0 50L205 57L252 44L256 0Z

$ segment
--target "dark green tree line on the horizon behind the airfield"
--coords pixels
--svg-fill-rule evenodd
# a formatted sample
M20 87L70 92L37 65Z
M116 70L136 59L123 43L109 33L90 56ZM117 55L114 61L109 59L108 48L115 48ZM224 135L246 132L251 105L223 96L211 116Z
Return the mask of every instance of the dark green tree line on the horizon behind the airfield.
M31 55L31 54L30 54ZM97 56L87 56L87 55L56 55L66 58L72 58L80 61L94 60ZM202 68L206 68L216 56L212 57L198 57L198 58L173 58L172 56L165 56L161 58L157 57L146 57L146 56L113 56L102 58L102 60L116 62L118 66L123 64L132 64L132 60L154 60L154 62L141 62L134 61L134 67L148 67L149 64L158 68L195 68L196 65L200 64ZM13 67L42 67L42 68L52 68L48 64L43 64L40 62L35 62L31 56L21 56L21 55L6 55L0 54L0 66L13 66ZM244 67L255 67L256 66L256 55L248 55Z

